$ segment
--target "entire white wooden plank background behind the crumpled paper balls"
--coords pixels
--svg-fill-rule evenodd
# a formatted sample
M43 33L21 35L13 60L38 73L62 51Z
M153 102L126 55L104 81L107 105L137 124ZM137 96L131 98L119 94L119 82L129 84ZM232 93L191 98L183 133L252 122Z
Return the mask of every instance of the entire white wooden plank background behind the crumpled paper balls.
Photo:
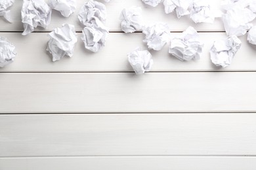
M16 46L11 65L0 69L0 170L65 169L256 169L256 47L240 37L232 65L218 69L209 59L223 24L193 24L140 0L106 3L110 36L93 54L79 39L73 58L52 62L47 33L74 24L53 11L51 25L23 37L21 0L14 22L0 18L0 36ZM213 2L219 7L219 1ZM152 72L137 76L127 53L146 48L142 33L124 34L119 14L142 7L144 20L167 22L179 35L188 25L200 31L203 57L182 62L168 46L153 52Z

